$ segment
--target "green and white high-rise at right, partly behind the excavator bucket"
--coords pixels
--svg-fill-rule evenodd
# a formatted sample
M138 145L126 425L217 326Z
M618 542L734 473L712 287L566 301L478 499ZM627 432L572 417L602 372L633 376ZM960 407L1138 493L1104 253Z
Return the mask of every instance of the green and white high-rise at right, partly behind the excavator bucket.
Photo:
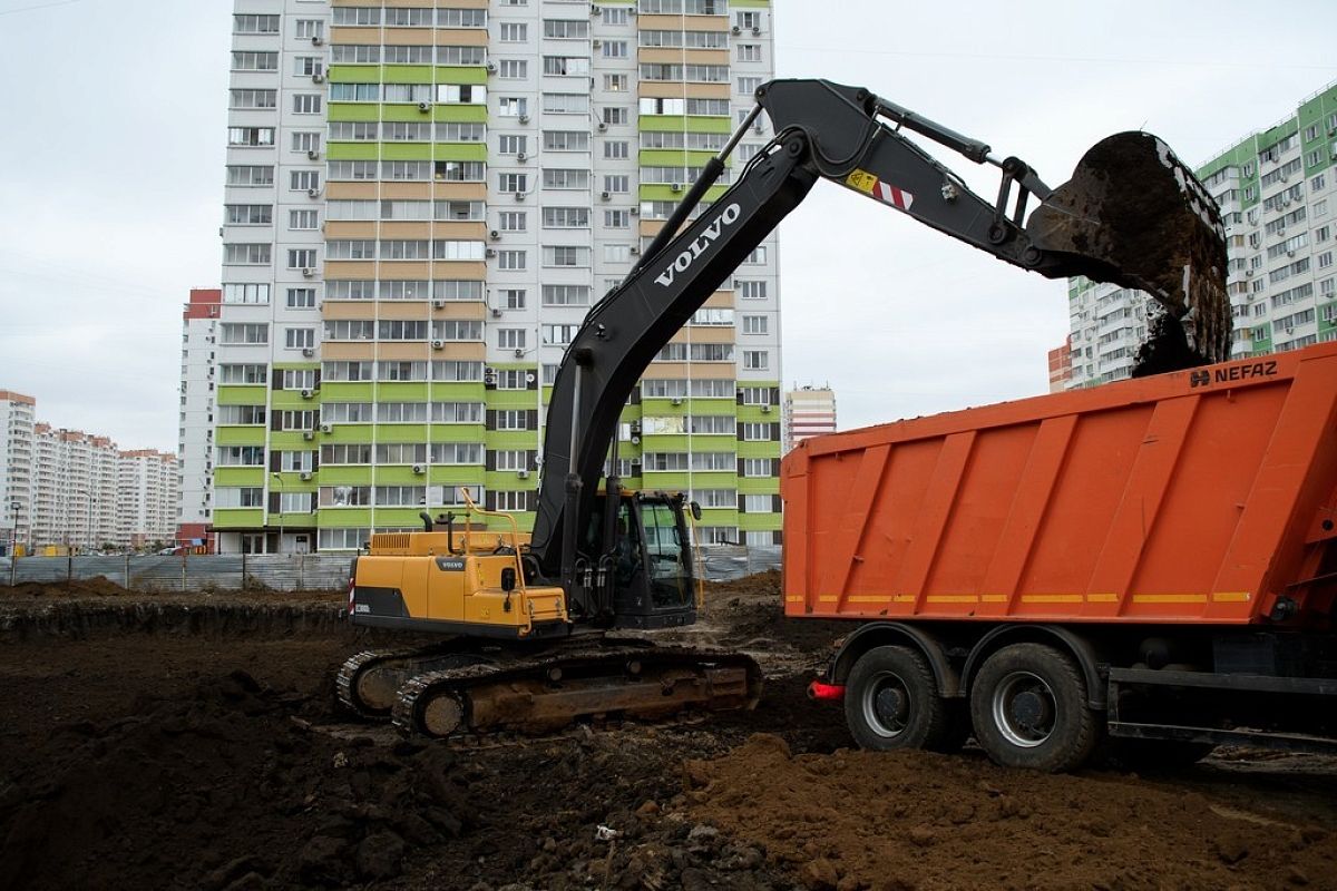
M1294 115L1198 168L1226 224L1235 357L1337 337L1334 164L1337 84L1329 84ZM1068 386L1126 378L1146 335L1148 307L1142 291L1071 279Z

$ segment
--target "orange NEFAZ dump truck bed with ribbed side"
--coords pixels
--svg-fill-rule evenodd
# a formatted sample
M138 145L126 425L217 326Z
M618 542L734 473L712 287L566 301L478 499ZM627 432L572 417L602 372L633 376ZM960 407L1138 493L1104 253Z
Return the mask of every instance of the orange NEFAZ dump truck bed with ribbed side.
M808 439L785 612L1304 621L1332 606L1334 492L1333 343Z

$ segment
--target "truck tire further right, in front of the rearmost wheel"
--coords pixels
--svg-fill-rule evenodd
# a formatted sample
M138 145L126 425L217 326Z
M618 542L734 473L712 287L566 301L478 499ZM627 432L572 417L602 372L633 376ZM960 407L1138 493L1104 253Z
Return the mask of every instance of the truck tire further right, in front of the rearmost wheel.
M1082 672L1044 644L1012 644L984 661L971 683L971 721L976 741L1003 767L1071 771L1096 743Z

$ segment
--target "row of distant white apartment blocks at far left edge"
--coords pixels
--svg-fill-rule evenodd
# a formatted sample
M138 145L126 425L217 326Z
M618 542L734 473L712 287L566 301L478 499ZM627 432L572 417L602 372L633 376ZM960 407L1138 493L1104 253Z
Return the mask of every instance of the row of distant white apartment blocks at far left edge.
M0 545L96 550L170 542L176 456L122 452L108 437L36 421L36 399L0 390Z

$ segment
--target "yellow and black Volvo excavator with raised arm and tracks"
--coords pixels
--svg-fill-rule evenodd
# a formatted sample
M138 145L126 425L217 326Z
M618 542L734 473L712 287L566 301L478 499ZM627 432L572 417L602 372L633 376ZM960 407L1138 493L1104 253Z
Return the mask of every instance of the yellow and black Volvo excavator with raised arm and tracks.
M697 620L699 508L682 493L628 489L610 468L622 409L655 354L820 179L1023 270L1148 291L1163 317L1139 355L1142 370L1229 358L1221 216L1155 136L1110 136L1068 183L1050 188L1020 159L999 159L985 143L862 88L775 80L755 99L567 349L532 536L513 520L507 532L484 532L488 512L469 504L463 517L424 512L421 532L374 534L353 561L354 624L440 636L425 648L349 659L336 687L357 715L448 737L757 703L762 679L750 657L652 643L655 629ZM763 112L775 138L706 204ZM905 131L997 168L996 199L972 192Z

